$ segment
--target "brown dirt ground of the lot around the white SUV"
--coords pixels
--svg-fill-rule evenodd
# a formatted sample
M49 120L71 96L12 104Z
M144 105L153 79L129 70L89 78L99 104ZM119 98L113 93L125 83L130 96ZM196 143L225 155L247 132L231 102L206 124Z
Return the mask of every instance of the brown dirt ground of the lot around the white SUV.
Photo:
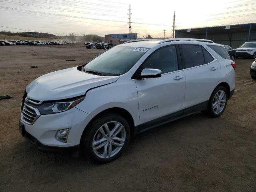
M82 43L0 47L0 95L12 96L0 100L0 192L256 191L252 59L235 60L236 91L221 117L199 113L143 132L109 164L45 154L22 138L18 122L26 85L100 52Z

